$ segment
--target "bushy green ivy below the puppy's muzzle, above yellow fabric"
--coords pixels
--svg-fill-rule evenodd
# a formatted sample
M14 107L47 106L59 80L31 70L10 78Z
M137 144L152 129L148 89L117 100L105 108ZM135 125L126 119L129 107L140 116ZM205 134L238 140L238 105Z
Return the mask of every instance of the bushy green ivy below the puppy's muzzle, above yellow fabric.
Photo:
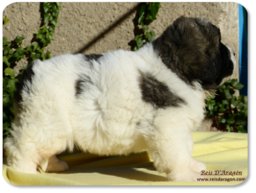
M234 96L235 90L244 87L237 79L230 79L220 85L216 95L206 103L205 114L213 119L218 130L247 133L244 126L248 123L248 96Z

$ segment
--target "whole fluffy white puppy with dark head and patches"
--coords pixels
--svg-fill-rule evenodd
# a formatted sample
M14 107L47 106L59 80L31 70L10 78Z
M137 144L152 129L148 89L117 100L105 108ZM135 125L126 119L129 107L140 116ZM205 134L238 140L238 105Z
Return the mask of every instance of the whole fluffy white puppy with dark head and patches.
M191 158L204 117L205 90L234 72L231 48L207 19L178 18L136 52L61 55L36 60L17 85L7 164L21 172L65 171L65 149L99 155L147 150L171 181L196 181Z

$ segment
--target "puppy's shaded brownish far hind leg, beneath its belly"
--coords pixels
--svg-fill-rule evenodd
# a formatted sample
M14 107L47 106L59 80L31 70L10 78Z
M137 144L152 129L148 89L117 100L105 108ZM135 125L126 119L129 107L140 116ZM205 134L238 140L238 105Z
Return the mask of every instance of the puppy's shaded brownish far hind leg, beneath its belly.
M56 158L56 155L52 155L49 158L48 167L46 172L61 172L68 170L68 165L65 161Z

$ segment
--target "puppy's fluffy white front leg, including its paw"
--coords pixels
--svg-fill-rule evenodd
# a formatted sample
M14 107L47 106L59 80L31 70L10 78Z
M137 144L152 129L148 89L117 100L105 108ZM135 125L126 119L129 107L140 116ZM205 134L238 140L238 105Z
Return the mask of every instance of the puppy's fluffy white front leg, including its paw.
M185 121L175 115L157 116L154 129L147 139L148 151L159 172L166 172L169 181L197 181L203 178L191 170L191 153L188 141L191 133Z

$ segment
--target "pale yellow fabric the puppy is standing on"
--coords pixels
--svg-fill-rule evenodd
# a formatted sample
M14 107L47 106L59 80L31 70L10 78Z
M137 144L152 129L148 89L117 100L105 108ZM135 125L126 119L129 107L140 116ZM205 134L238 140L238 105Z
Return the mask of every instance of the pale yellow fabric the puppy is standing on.
M206 164L206 171L242 172L242 175L205 176L209 178L247 177L247 134L194 132L193 158ZM3 177L14 185L235 185L242 181L169 182L155 170L146 152L129 156L71 154L60 157L70 170L60 173L23 174L3 164ZM237 173L238 174L238 173Z

